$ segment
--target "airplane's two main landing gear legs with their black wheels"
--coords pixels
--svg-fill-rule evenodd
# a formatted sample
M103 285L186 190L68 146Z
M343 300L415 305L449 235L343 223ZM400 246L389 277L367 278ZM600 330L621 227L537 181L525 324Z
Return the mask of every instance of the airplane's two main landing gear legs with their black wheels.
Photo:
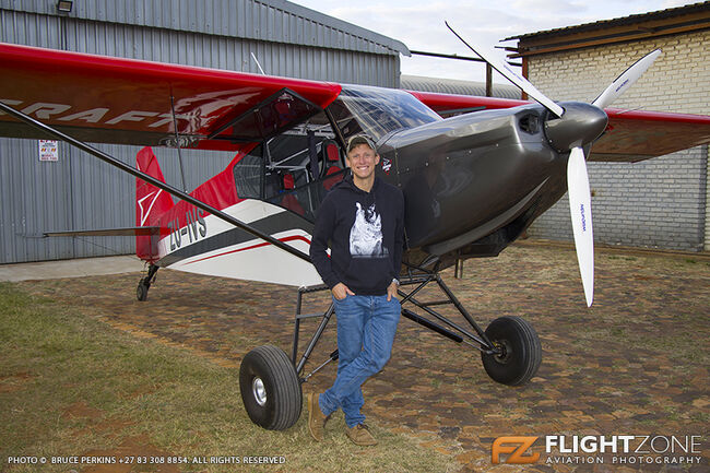
M449 340L464 343L480 351L484 369L494 381L508 386L520 386L535 376L542 360L542 348L537 333L530 323L519 317L500 317L490 322L484 332L443 283L437 271L415 268L401 280L399 295L402 305L410 303L429 317L422 317L409 308L402 309L402 316ZM431 283L439 287L445 298L434 301L418 300L415 297L417 293ZM404 288L407 286L414 286L414 288L405 291ZM308 358L333 316L334 308L331 303L324 314L301 314L303 296L327 289L327 286L298 289L291 359L282 350L265 345L249 352L241 363L239 371L241 398L247 413L255 424L274 430L283 430L294 425L300 415L301 385L326 365L338 359L336 350L330 354L329 359L311 373L304 373ZM455 307L473 331L433 309L433 307L441 305ZM300 321L316 317L321 319L318 329L298 359Z

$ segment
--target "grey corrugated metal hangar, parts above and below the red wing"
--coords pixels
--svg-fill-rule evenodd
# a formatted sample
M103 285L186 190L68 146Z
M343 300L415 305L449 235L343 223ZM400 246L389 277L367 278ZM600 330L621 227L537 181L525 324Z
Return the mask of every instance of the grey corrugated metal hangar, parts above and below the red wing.
M399 42L283 0L0 0L0 42L334 82L399 86ZM97 147L134 164L137 146ZM134 180L60 143L0 139L0 263L133 251L133 238L38 238L46 230L130 226ZM156 150L182 187L175 150ZM187 188L222 170L228 153L182 151Z

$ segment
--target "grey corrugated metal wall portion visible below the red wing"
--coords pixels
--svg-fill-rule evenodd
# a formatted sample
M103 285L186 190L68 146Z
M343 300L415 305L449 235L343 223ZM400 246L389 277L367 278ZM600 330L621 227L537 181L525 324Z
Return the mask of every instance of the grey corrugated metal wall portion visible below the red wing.
M37 141L0 140L0 262L122 255L132 237L42 238L48 230L99 229L135 223L135 180L59 143L59 161L39 162ZM96 147L135 165L137 146ZM182 188L176 150L156 149L165 179ZM182 150L191 190L224 169L232 154Z

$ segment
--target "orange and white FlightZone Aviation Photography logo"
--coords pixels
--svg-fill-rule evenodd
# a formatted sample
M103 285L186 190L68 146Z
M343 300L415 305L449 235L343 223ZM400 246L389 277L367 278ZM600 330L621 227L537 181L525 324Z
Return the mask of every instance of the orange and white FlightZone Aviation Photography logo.
M693 465L703 463L699 435L547 435L498 437L490 446L493 464ZM544 441L545 458L533 447ZM707 462L707 459L705 460Z

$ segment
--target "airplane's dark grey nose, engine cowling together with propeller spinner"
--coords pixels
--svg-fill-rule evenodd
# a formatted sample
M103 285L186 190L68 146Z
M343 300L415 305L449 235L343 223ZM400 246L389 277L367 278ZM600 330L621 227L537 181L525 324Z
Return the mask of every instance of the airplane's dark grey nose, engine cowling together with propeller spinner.
M565 105L581 110L551 120L531 104L387 138L378 174L404 192L410 248L437 257L495 256L557 202L566 191L569 143L588 144L606 126L603 111Z

